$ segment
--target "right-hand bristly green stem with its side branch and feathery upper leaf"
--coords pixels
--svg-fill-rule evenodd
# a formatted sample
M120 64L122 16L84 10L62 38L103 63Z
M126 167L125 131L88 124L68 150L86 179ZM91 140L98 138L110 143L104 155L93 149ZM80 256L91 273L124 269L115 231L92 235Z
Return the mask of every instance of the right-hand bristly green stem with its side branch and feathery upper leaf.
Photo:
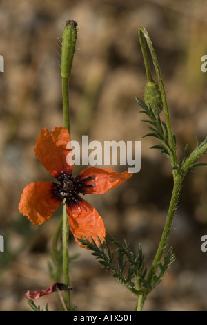
M136 310L142 310L144 305L144 300L146 299L146 295L152 290L152 288L155 288L155 286L161 281L161 277L165 272L165 270L170 266L172 261L175 259L174 254L172 253L172 249L168 250L168 254L166 257L164 257L164 251L166 249L166 245L168 242L170 229L172 226L172 220L175 215L175 210L177 207L179 194L181 192L181 185L184 180L184 176L186 173L192 169L193 167L199 166L199 165L207 165L204 163L195 163L195 161L202 155L205 154L207 151L207 137L204 139L203 142L201 142L200 145L198 145L195 148L195 150L188 156L188 158L184 158L183 162L181 163L181 166L177 163L177 154L176 154L176 147L175 147L175 136L173 136L171 131L171 124L170 124L170 116L168 112L168 104L166 102L166 93L164 89L164 83L161 77L161 71L159 68L159 63L157 60L157 55L155 53L155 49L152 46L152 41L150 40L150 37L148 35L148 32L146 29L141 26L139 28L139 41L141 44L141 50L144 56L144 64L146 67L146 75L148 81L151 81L152 74L150 71L150 64L148 59L148 53L146 50L146 44L144 39L146 39L146 43L148 45L148 48L150 50L150 55L152 57L152 61L155 67L155 71L157 74L157 80L159 82L159 90L161 93L161 102L164 109L164 115L166 124L167 133L165 133L165 138L163 138L163 133L161 133L160 129L160 119L159 119L159 113L157 113L157 118L155 118L155 115L150 114L150 108L148 109L148 106L146 106L144 103L141 103L141 100L138 100L139 104L142 108L144 108L144 111L142 113L146 113L150 120L146 120L145 122L150 122L155 127L153 129L154 133L149 133L146 136L158 136L159 140L161 140L161 146L153 146L161 149L163 153L165 153L168 158L170 158L170 163L172 165L172 175L173 175L173 189L172 189L172 196L170 199L170 205L168 208L168 214L166 217L166 223L164 225L164 230L161 234L161 240L159 242L159 246L157 248L157 252L155 254L155 258L152 261L152 266L150 268L150 271L148 272L148 277L146 279L146 282L148 284L148 291L144 292L144 290L141 290L142 292L137 295L137 307ZM145 105L145 106L144 106ZM147 109L146 109L147 108ZM152 129L152 128L151 128ZM184 154L186 154L186 148L184 149ZM185 155L184 155L185 157ZM161 264L161 259L164 257L164 264ZM156 275L156 272L159 270L158 275ZM157 281L158 280L158 281Z

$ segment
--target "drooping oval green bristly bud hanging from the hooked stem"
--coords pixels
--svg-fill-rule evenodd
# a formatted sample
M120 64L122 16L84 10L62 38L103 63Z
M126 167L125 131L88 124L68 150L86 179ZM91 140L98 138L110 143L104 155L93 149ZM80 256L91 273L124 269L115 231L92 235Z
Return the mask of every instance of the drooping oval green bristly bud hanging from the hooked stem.
M162 110L162 100L159 87L156 82L147 82L144 89L144 101L150 104L152 111L160 113Z

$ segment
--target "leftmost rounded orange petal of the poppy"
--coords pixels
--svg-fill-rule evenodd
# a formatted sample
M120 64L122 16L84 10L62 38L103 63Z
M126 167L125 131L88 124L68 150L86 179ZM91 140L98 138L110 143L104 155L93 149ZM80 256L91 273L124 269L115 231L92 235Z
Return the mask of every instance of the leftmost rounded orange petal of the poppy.
M27 185L21 194L19 212L32 221L34 225L41 225L61 204L52 193L54 185L50 182L34 182Z

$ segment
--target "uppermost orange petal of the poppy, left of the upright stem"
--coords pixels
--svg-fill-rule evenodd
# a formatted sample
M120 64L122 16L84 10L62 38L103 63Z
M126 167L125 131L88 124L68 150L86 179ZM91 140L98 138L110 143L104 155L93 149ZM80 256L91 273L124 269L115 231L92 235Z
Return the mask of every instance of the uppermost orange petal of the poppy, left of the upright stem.
M52 132L45 128L39 133L34 149L35 154L55 178L61 171L68 173L72 171L72 164L67 163L67 158L72 159L72 150L66 149L68 142L70 142L70 135L65 127L55 127Z

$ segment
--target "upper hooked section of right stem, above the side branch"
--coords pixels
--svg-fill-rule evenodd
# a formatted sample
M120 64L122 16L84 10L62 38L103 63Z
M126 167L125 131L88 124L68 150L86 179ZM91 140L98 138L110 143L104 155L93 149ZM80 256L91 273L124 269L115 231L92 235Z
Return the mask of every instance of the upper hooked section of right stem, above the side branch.
M168 129L168 137L169 137L169 141L170 141L170 148L172 149L172 156L173 156L173 160L171 161L172 167L174 167L175 165L177 165L177 156L176 156L176 149L175 149L175 142L173 139L173 135L172 135L172 129L171 129L171 124L170 124L170 115L169 115L169 111L168 111L168 104L166 101L166 92L164 89L164 83L161 77L161 70L159 67L159 63L157 60L157 55L155 53L155 49L152 45L152 41L148 35L148 32L146 31L146 29L141 26L139 27L139 41L140 41L140 45L141 45L141 50L144 56L144 64L145 64L145 68L146 68L146 73L147 73L147 77L150 76L151 77L151 72L150 71L150 64L149 64L149 59L148 59L148 54L146 51L146 45L144 42L144 37L146 39L146 42L148 44L148 48L150 50L150 55L152 57L152 62L154 64L155 67L155 72L157 75L157 80L159 83L159 90L161 93L161 100L162 100L162 104L163 104L163 109L164 109L164 114L165 114L165 119L166 119L166 127ZM151 80L150 80L151 81Z

